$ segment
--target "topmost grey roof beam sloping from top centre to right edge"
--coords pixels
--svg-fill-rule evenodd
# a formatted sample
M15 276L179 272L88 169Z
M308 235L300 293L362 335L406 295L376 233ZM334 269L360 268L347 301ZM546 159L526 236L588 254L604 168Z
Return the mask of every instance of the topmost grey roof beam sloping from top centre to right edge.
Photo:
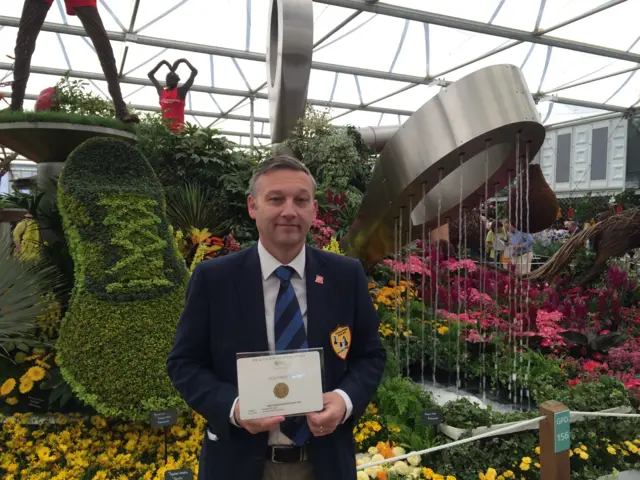
M600 47L588 43L576 42L573 40L565 40L563 38L549 37L540 35L539 33L527 32L515 28L502 27L500 25L490 25L483 22L468 20L464 18L456 18L448 15L417 10L413 8L400 7L387 3L367 3L363 0L314 0L316 3L333 5L342 8L351 8L365 12L387 15L389 17L401 18L404 20L413 20L420 23L429 23L431 25L440 25L442 27L457 28L458 30L466 30L468 32L481 33L484 35L492 35L494 37L510 38L512 40L520 40L523 42L539 43L551 47L565 48L576 52L589 53L591 55L599 55L601 57L615 58L617 60L625 60L627 62L640 63L640 55L637 53L625 52L623 50L615 50L613 48ZM544 32L543 32L544 33Z

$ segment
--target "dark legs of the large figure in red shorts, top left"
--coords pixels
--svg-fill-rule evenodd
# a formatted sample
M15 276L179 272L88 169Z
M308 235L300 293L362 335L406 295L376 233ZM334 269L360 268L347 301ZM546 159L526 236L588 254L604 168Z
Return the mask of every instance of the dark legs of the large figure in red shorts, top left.
M87 35L91 38L98 54L109 93L113 99L116 117L123 122L138 123L136 115L127 111L127 104L122 98L118 69L113 56L111 42L98 13L97 0L65 0L67 15L77 15ZM15 65L13 67L13 83L11 86L11 110L22 110L24 95L29 80L31 56L36 49L36 40L47 17L53 0L25 0L20 17L18 37L15 48Z

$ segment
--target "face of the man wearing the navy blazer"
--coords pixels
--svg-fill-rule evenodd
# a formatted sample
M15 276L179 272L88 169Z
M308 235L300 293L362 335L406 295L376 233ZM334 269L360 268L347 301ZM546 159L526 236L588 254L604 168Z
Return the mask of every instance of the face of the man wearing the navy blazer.
M304 243L318 208L311 178L295 170L272 170L262 175L255 185L255 197L249 195L247 205L261 240L284 249Z

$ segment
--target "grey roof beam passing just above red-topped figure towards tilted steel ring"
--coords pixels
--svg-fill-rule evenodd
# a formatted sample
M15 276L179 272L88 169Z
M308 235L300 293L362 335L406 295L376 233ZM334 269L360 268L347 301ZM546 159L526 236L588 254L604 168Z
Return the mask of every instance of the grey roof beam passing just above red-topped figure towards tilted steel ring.
M18 28L20 19L16 17L7 17L0 15L0 26ZM64 33L67 35L76 35L86 37L87 33L82 27L73 25L62 25L59 23L45 22L42 26L43 32ZM174 50L183 50L193 53L203 53L205 55L216 55L219 57L239 58L242 60L252 60L255 62L265 62L266 57L263 53L245 52L244 50L234 50L231 48L215 47L212 45L202 45L199 43L180 42L177 40L169 40L166 38L147 37L137 35L135 33L126 32L107 32L109 40L116 42L127 42L138 45L146 45L150 47L172 48ZM638 60L640 62L640 60ZM382 80L393 80L396 82L408 83L429 83L429 79L425 77L417 77L415 75L403 75L400 73L383 72L381 70L370 70L367 68L350 67L348 65L335 65L332 63L313 62L311 68L315 70L324 70L327 72L346 73L348 75L359 75L361 77L379 78Z

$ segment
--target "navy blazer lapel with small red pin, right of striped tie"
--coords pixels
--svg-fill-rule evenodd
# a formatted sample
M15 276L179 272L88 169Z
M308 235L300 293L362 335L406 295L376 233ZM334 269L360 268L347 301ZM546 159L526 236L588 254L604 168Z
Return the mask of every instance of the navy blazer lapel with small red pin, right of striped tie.
M305 277L307 285L307 342L309 348L323 347L327 332L327 286L324 284L324 261L313 248L306 246Z

